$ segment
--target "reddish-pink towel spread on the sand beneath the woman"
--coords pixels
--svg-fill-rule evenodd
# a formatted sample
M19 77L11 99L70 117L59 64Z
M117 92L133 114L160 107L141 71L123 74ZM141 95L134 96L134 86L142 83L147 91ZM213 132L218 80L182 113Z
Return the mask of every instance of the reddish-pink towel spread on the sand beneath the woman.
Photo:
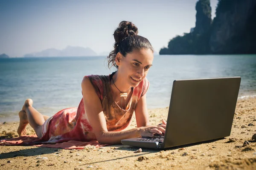
M98 141L67 141L57 144L47 144L47 142L39 141L37 135L25 135L17 138L7 138L0 141L0 145L32 145L38 147L52 147L52 148L63 148L63 149L84 149L86 146L103 147L110 144L99 144Z

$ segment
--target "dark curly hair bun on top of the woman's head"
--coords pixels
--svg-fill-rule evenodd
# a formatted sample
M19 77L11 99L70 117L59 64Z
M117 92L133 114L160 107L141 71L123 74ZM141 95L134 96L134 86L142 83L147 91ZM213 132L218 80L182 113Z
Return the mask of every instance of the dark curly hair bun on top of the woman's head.
M114 32L114 38L116 43L120 43L125 37L131 35L138 35L138 28L133 23L128 21L122 21Z

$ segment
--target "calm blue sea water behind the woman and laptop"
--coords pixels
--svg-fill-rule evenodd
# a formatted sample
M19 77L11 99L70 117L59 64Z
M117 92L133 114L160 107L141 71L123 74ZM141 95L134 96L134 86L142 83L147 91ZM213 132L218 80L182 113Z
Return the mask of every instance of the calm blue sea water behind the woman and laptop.
M0 122L17 121L26 98L45 115L77 107L84 75L108 75L105 57L0 59ZM256 55L155 55L148 108L168 107L172 82L240 76L239 98L256 97Z

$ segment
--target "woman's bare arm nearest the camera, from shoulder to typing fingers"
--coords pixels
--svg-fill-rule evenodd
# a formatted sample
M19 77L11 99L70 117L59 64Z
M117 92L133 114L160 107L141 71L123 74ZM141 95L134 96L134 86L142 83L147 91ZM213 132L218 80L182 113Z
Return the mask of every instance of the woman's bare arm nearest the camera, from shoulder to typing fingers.
M99 143L102 144L119 144L122 139L135 138L139 136L152 137L153 133L164 133L163 127L138 127L131 130L120 132L108 132L105 115L103 113L102 104L91 84L89 78L85 77L81 83L84 109L88 120L93 128Z

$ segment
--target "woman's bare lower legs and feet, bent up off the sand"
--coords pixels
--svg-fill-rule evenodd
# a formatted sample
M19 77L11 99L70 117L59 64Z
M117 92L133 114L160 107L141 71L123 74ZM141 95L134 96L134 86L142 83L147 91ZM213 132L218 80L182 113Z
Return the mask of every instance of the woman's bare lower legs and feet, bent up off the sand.
M26 125L30 126L35 130L38 138L42 137L42 125L49 116L42 115L34 107L32 107L32 99L27 99L22 107L22 110L19 112L20 125L18 127L17 133L22 136L26 135Z

